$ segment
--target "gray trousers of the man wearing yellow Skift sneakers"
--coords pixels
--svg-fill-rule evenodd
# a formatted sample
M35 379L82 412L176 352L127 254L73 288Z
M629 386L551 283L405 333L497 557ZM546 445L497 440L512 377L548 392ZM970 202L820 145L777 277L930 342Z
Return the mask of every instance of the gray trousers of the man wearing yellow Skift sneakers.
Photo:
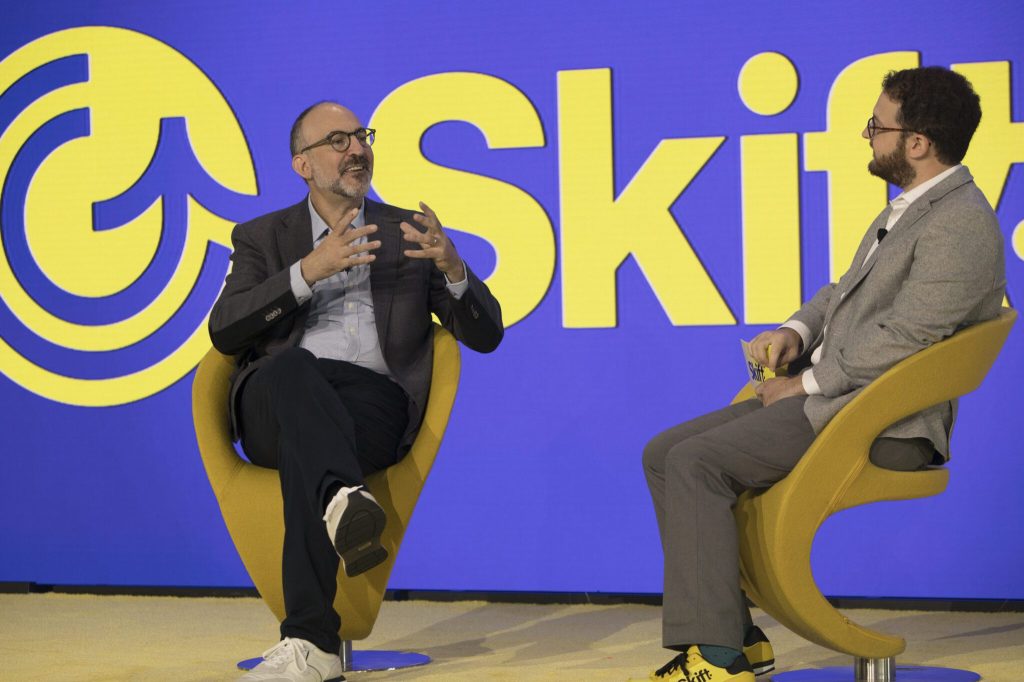
M810 447L815 434L804 415L806 399L788 397L767 408L758 399L731 404L659 433L644 449L665 552L666 648L742 648L751 614L739 589L732 508L743 491L781 480ZM927 466L932 453L924 438L880 438L871 461L913 470Z

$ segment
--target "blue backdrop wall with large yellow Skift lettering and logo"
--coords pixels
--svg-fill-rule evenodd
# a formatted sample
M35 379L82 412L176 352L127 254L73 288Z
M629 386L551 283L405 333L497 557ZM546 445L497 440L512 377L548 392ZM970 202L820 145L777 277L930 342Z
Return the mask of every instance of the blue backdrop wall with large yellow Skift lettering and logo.
M191 372L232 224L302 198L288 130L333 98L379 130L377 196L430 203L509 325L464 353L392 587L660 591L641 450L845 269L887 199L860 131L890 69L981 93L967 163L1024 296L1022 29L1010 1L6 8L0 582L250 584ZM1018 326L948 492L823 528L826 593L1024 598L1022 377Z

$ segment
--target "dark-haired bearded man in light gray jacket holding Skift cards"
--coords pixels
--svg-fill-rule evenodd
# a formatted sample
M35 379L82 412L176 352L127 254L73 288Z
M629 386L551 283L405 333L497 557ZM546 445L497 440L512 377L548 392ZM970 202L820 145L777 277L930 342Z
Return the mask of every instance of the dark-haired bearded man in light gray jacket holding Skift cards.
M682 652L650 679L750 681L772 670L774 654L739 589L737 495L784 477L886 370L998 313L1002 238L959 165L980 120L963 76L940 68L889 74L862 134L873 153L868 171L903 193L871 224L838 283L752 342L756 359L773 370L790 364L791 376L645 449L665 551L663 643ZM871 461L900 470L944 462L952 420L953 406L943 403L893 424L873 443Z

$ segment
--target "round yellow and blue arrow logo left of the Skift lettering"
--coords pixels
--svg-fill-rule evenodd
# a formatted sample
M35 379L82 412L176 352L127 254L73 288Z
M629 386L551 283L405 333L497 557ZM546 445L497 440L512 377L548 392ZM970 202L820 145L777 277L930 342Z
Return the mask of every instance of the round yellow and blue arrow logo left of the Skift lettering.
M0 372L41 396L152 395L209 348L245 135L184 55L109 27L0 61ZM251 201L251 199L250 199Z

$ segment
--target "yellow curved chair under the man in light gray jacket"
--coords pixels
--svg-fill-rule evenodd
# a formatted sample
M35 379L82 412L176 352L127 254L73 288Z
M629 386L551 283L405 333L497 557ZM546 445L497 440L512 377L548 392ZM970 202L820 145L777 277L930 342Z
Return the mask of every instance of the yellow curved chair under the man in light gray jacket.
M805 639L854 656L853 678L850 669L843 668L814 671L813 677L799 677L810 671L787 673L773 680L893 679L895 656L906 648L905 640L859 626L828 603L811 574L811 544L822 521L842 509L924 498L945 489L946 468L881 469L868 461L870 445L900 419L976 389L1016 317L1016 311L1004 308L998 317L964 329L899 363L836 415L785 478L767 491L740 496L735 516L740 584L748 596ZM754 397L750 385L735 400L749 397ZM966 674L973 677L941 679L979 679Z

